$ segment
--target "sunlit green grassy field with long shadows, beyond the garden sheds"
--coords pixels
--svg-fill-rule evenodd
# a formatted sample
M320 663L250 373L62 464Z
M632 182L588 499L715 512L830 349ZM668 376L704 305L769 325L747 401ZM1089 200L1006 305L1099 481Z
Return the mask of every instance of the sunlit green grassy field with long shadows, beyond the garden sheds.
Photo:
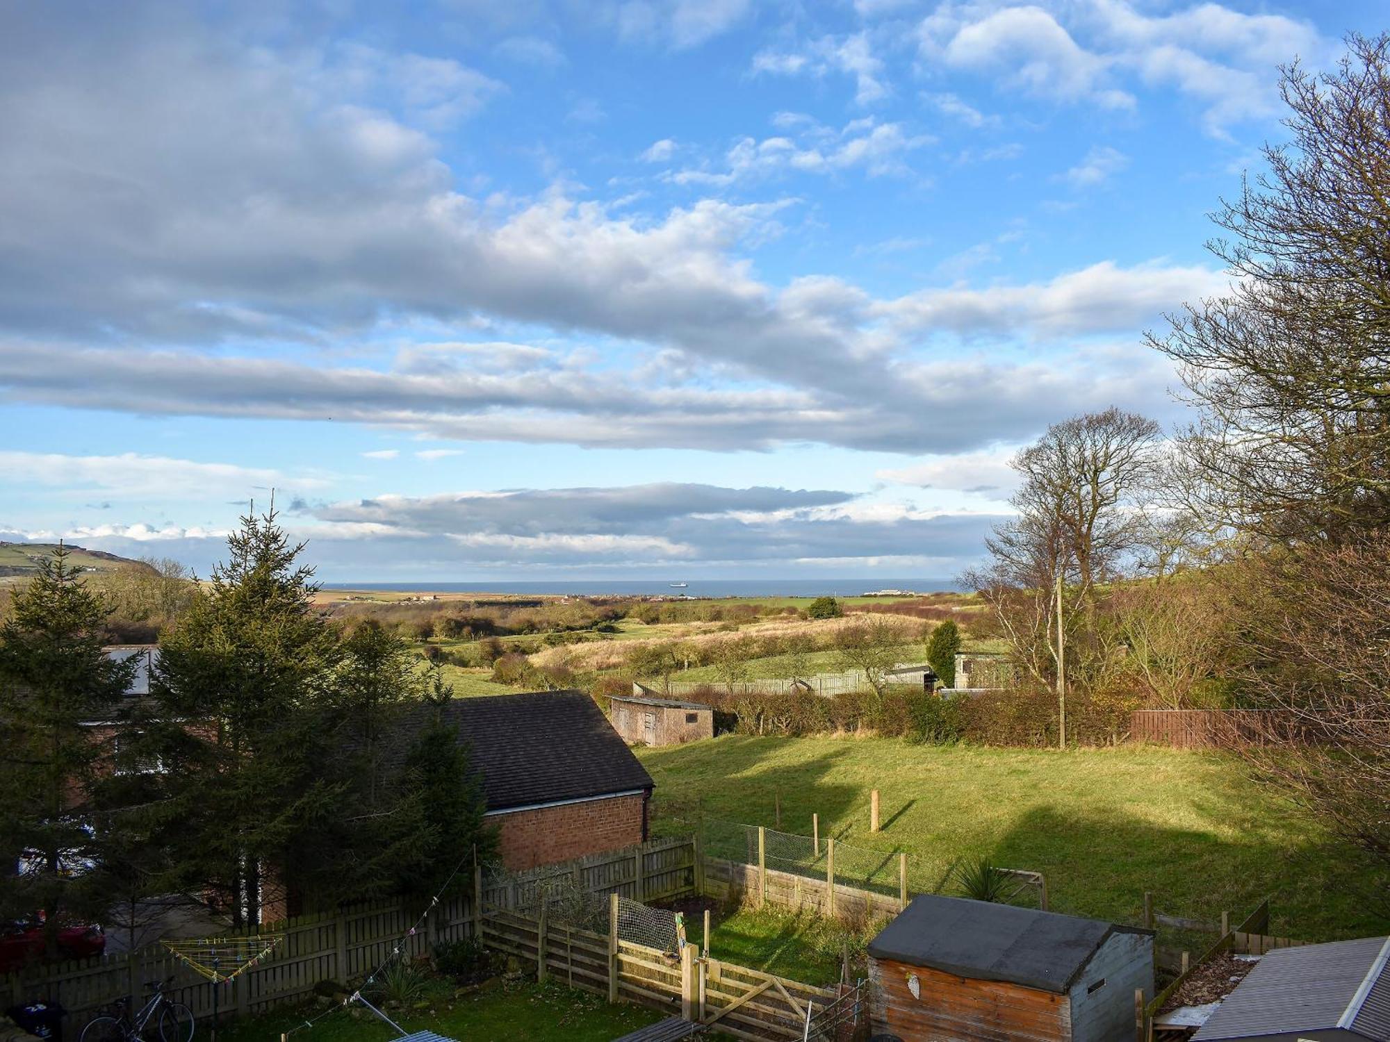
M1163 749L1070 752L912 746L897 739L752 738L639 749L656 779L656 831L696 800L708 817L880 850L906 850L910 885L940 889L958 857L1047 874L1052 907L1138 921L1144 891L1169 914L1245 914L1266 896L1273 932L1383 932L1358 895L1364 863L1234 761ZM884 828L869 832L869 792Z

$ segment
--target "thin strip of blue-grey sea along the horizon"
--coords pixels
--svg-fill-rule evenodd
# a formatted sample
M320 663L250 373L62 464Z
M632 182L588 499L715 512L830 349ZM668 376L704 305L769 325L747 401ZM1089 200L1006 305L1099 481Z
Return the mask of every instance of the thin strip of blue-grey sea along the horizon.
M684 586L673 584L684 582ZM324 589L403 593L550 593L570 597L856 597L880 589L959 590L955 579L538 579L530 582L325 582Z

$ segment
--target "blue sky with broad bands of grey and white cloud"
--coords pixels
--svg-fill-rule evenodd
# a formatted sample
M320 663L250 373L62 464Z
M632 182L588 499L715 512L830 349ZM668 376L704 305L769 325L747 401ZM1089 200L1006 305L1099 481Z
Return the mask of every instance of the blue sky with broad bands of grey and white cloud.
M0 0L0 539L955 575L1383 10Z

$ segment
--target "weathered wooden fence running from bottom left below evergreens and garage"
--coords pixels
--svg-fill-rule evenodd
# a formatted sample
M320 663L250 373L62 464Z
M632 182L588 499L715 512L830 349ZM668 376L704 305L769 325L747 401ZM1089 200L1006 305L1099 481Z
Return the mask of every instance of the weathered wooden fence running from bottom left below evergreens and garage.
M486 879L481 896L495 907L523 909L534 903L538 885L555 878L574 879L577 886L592 893L619 893L641 902L692 893L695 847L688 836L653 839L624 850ZM474 932L477 906L473 896L442 900L425 927L407 935L420 913L421 907L386 900L243 931L281 934L284 939L259 966L217 985L222 989L218 1007L225 1013L249 1014L303 1002L320 981L346 984L371 973L398 943L403 954L418 957L436 943L461 941ZM158 943L129 954L36 966L0 977L0 998L6 999L4 1006L39 999L60 1003L67 1010L64 1029L71 1038L117 999L143 995L145 981L170 977L174 978L171 998L175 1002L185 1003L196 1017L211 1016L214 985Z

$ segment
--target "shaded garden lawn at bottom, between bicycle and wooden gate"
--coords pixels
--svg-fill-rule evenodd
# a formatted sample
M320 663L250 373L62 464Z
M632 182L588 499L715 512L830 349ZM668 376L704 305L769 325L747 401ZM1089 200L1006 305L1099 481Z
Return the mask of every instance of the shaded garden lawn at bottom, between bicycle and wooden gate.
M407 1031L434 1031L466 1042L534 1039L535 1042L609 1042L662 1018L655 1010L628 1003L610 1006L602 996L559 982L505 984L455 998L452 988L432 989L432 1002L414 1013L392 1011ZM310 1016L317 1013L311 1010ZM304 1023L303 1009L275 1010L229 1021L218 1042L267 1042ZM341 1010L314 1027L291 1035L293 1042L388 1042L399 1038L361 1007Z

